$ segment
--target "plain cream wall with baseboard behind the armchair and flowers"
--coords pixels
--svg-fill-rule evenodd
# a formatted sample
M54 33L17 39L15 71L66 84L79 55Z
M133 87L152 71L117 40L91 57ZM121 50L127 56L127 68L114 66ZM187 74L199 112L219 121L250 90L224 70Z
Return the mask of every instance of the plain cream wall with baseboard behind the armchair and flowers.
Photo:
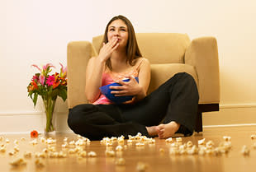
M255 9L254 0L1 0L0 132L43 130L42 105L34 109L26 92L36 72L31 64L53 63L59 72L59 62L66 64L69 41L102 35L118 14L127 16L136 32L187 33L191 39L216 36L221 109L204 115L204 124L256 123ZM249 119L237 114L235 122L229 122L230 114L241 107L249 109ZM59 100L55 111L59 130L66 131L67 103ZM227 121L220 120L223 116Z

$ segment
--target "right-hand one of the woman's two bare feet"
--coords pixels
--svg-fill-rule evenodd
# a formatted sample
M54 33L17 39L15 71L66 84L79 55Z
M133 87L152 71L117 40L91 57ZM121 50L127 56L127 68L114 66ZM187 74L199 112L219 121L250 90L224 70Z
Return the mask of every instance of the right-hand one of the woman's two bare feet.
M156 127L156 130L158 132L159 138L168 138L168 137L172 137L175 134L175 132L178 131L179 127L180 127L179 123L176 123L175 121L171 121L170 123L159 124Z

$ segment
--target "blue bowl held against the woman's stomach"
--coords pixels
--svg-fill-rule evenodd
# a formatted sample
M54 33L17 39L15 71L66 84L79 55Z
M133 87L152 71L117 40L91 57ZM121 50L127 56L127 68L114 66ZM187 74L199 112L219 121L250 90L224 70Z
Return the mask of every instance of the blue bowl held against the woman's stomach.
M135 77L135 80L139 82L138 77ZM130 81L130 79L124 79L123 81ZM107 97L107 99L115 102L116 104L121 104L121 103L126 102L128 100L132 100L132 98L134 97L134 95L127 95L127 96L117 97L117 96L111 94L111 91L118 91L118 90L110 89L109 86L121 86L121 84L118 84L118 83L114 82L114 83L108 84L106 86L100 87L100 90L102 91L102 94L105 95Z

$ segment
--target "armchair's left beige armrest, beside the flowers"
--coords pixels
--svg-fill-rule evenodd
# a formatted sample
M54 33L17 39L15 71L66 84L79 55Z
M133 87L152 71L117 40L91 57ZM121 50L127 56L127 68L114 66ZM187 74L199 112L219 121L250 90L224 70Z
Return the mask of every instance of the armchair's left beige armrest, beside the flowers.
M85 96L85 73L89 58L95 56L95 49L88 41L75 41L68 44L68 105L69 109L75 105L87 103Z

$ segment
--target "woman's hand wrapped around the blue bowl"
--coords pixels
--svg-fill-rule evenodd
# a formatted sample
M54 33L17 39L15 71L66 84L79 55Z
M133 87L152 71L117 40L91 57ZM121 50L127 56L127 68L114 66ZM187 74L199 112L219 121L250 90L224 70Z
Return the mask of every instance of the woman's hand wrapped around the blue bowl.
M142 87L135 80L135 77L127 77L130 81L116 81L121 86L110 86L110 89L118 90L111 91L111 94L115 96L126 96L126 95L138 95L142 91Z

